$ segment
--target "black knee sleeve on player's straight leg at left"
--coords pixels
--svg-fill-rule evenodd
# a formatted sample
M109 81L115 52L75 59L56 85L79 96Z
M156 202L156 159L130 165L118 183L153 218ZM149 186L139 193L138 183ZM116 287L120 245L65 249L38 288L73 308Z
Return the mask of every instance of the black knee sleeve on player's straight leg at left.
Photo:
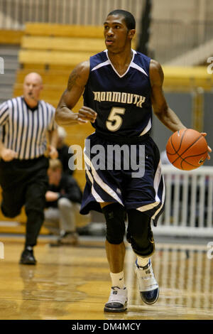
M125 210L119 203L112 203L102 208L107 224L107 241L121 244L125 234Z

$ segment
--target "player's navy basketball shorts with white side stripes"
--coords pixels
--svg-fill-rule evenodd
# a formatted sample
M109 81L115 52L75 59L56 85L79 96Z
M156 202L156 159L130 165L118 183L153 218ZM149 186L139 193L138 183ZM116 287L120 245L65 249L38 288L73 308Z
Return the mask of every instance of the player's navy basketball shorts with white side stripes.
M156 226L163 212L165 185L160 153L150 136L140 144L121 144L94 133L84 147L87 183L80 213L102 212L100 203L120 203L146 213Z

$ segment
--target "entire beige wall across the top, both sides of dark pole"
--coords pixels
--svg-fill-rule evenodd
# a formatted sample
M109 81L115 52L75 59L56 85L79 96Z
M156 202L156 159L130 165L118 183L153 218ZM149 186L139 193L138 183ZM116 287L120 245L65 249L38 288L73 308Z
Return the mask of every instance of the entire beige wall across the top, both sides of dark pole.
M113 9L131 11L137 33L146 0L0 0L0 29L23 30L26 22L102 26ZM149 52L165 63L213 38L213 1L151 0Z

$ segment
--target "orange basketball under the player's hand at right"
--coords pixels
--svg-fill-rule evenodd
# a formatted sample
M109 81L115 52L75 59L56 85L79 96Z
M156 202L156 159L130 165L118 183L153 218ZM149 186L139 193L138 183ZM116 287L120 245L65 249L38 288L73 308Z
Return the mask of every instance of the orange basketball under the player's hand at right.
M183 171L202 166L208 155L207 141L193 129L176 131L168 139L166 153L170 163Z

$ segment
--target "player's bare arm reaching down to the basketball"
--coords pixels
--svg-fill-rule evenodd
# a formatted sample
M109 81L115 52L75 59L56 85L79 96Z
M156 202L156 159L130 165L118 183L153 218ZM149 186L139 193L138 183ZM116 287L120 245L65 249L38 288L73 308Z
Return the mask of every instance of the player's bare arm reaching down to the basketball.
M186 129L186 126L180 122L178 116L168 106L163 94L163 70L158 62L151 60L150 63L150 80L151 80L151 102L153 112L165 126L175 132L180 129Z

